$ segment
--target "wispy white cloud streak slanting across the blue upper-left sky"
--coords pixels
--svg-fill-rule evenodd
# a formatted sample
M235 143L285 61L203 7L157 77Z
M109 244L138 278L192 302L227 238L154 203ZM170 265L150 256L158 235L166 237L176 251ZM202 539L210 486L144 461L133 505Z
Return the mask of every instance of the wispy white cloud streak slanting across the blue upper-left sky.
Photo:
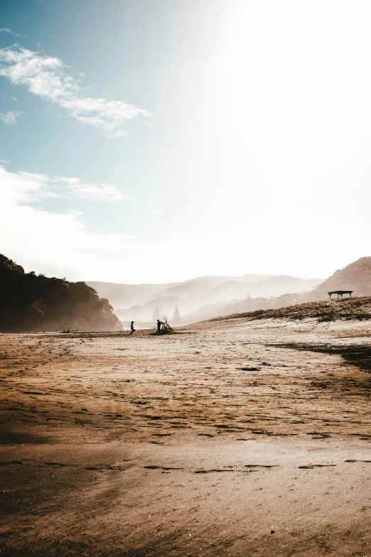
M0 75L14 85L26 85L33 95L59 105L82 124L100 128L109 138L127 135L127 120L149 115L121 100L86 96L59 58L19 46L0 48Z

